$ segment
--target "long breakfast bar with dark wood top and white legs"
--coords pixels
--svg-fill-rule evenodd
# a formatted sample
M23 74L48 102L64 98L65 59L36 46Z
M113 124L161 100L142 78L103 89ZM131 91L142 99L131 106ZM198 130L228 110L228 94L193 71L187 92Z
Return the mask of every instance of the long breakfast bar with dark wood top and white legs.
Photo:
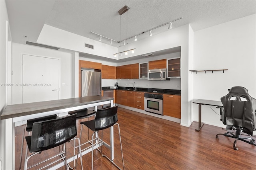
M70 98L70 99L61 99L61 100L52 100L45 102L34 102L27 104L14 104L8 105L3 110L0 119L6 119L5 123L5 143L6 143L6 153L5 159L9 160L10 164L8 167L10 169L15 168L15 131L14 131L14 123L19 121L24 121L28 119L34 119L37 117L43 117L47 115L54 115L59 113L65 113L68 111L84 109L88 107L95 107L95 111L97 110L97 106L110 104L113 106L114 98L102 97L102 96L87 96L81 98ZM110 129L110 145L104 143L109 149L111 153L111 160L114 160L114 131L113 127ZM82 155L90 152L91 150L85 150L82 152ZM71 162L75 157L69 158L67 161ZM64 165L64 163L63 163ZM58 166L54 166L53 169L62 166L62 163L58 164Z

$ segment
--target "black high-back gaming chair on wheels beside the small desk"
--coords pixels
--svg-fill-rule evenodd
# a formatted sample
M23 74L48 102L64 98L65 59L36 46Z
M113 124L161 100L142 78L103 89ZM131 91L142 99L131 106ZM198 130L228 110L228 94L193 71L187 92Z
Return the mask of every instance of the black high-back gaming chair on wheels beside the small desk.
M252 138L253 131L256 130L256 99L248 94L246 88L232 87L220 100L223 104L222 122L226 125L226 130L235 130L236 134L228 131L217 134L216 139L219 138L218 135L235 138L234 150L238 150L236 147L238 140L256 146ZM241 132L247 133L250 137L241 137Z

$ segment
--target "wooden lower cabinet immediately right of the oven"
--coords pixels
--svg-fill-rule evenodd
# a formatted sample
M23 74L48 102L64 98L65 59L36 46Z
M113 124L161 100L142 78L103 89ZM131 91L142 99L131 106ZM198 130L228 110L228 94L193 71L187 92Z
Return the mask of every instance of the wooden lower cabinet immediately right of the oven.
M180 96L164 94L163 97L164 115L180 119Z

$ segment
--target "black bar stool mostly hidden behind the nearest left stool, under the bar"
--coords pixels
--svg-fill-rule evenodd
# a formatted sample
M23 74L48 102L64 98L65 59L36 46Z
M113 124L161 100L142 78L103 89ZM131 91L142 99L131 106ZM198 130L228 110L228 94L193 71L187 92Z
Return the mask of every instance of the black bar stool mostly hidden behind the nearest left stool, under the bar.
M49 115L49 116L38 117L38 118L35 118L35 119L27 120L27 123L24 125L24 130L23 130L23 137L22 137L22 144L21 144L21 151L20 151L20 168L19 168L19 170L21 170L23 144L24 144L24 137L25 137L25 128L26 128L26 131L28 132L28 136L29 136L30 132L32 132L33 123L38 122L38 121L45 121L45 120L50 120L50 119L56 119L56 118L58 118L57 115ZM25 159L27 158L27 155L28 155L28 146L26 147Z

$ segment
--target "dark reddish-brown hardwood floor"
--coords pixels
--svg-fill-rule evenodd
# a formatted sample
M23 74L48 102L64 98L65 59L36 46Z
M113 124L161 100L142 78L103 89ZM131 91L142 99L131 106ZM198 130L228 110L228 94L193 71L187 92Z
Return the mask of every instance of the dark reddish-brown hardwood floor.
M77 121L78 134L80 134L80 121ZM256 147L238 141L239 150L234 150L234 139L224 136L215 139L217 133L225 132L220 127L205 124L197 132L195 131L197 122L193 122L188 128L179 123L123 108L118 108L118 123L126 170L253 170L256 166ZM82 136L82 141L86 141L85 127ZM103 138L104 141L109 139L108 129L104 131ZM22 126L15 127L15 169L19 167L21 140ZM122 167L117 127L114 128L114 141L114 161ZM72 152L71 144L73 145L72 142L67 145L69 154ZM42 152L30 162L45 158L53 153L52 150ZM58 149L54 151L58 152ZM103 152L109 155L106 151L107 149L103 147ZM91 153L82 158L84 170L91 169ZM24 156L22 168L23 164ZM77 169L81 169L80 164ZM101 157L97 150L94 151L94 169L117 170L106 158Z

